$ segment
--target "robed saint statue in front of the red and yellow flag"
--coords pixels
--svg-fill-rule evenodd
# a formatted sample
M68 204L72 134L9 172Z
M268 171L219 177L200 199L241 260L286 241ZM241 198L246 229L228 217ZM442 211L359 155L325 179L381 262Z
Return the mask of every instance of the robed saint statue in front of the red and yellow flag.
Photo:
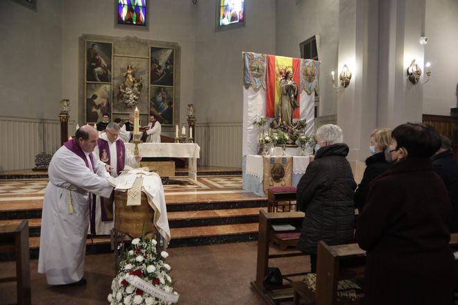
M278 122L280 126L294 127L293 113L299 107L297 103L298 85L293 80L293 73L287 71L280 80L280 101L278 103Z

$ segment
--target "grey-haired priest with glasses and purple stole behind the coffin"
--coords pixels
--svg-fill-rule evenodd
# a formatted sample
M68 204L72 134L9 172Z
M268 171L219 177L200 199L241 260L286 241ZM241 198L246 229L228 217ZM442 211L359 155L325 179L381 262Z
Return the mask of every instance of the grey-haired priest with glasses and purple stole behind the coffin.
M117 177L124 166L128 165L137 168L142 160L141 156L135 156L124 146L124 142L119 139L119 124L109 123L106 132L103 132L97 140L94 155L101 162L109 165L110 175ZM95 235L109 235L113 228L113 203L114 193L110 198L96 196L95 208Z

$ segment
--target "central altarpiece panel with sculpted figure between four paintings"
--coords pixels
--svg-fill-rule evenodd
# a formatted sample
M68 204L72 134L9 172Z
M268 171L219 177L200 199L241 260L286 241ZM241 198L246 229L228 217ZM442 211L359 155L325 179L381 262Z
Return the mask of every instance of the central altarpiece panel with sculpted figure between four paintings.
M113 71L113 112L149 113L149 59L114 55Z

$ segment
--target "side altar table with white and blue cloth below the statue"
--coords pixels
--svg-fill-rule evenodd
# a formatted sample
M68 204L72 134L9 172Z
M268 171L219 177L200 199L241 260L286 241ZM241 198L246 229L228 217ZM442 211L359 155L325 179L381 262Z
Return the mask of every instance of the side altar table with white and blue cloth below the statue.
M278 174L275 173L274 166L266 171L265 166L274 165L276 162L283 163L284 177L282 179L275 179L275 175ZM265 197L266 189L271 186L297 186L309 162L309 156L247 155L242 164L243 189ZM275 183L275 180L278 183Z

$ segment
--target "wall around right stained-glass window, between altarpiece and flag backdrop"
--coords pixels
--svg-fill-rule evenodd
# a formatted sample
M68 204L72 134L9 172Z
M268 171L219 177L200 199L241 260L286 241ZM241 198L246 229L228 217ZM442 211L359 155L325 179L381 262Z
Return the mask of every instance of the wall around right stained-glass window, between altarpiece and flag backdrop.
M198 1L194 97L182 95L181 103L194 98L198 123L241 123L241 52L275 53L275 0L246 1L246 26L218 32L216 3Z

